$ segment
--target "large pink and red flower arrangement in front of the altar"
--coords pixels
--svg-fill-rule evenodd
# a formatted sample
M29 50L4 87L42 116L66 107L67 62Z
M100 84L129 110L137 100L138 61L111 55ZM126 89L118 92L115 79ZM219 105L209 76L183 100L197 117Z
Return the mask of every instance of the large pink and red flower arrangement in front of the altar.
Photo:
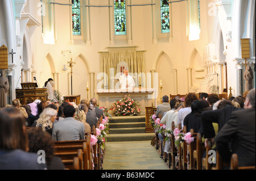
M139 103L125 95L124 98L117 100L110 108L114 116L138 116L141 115Z

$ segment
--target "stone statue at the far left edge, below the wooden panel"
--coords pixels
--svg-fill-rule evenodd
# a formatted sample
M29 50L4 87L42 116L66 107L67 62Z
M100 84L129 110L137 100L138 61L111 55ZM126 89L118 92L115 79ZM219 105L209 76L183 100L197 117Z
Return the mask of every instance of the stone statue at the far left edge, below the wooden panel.
M0 70L0 108L5 107L7 104L7 91L9 90L9 81L4 76L4 70Z

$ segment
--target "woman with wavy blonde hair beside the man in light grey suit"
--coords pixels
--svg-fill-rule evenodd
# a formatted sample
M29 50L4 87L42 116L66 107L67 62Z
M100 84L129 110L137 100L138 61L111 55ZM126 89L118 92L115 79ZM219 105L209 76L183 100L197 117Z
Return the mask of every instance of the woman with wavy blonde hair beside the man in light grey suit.
M52 125L57 116L57 111L53 108L45 108L43 112L40 114L38 120L31 125L31 127L42 128L43 131L47 131L52 134Z

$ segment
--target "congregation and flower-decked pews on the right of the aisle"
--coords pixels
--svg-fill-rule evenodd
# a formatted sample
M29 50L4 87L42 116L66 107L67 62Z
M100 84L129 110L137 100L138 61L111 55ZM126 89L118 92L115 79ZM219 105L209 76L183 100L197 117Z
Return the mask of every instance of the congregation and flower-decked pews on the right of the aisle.
M171 170L255 170L255 89L163 96L154 113L151 145Z

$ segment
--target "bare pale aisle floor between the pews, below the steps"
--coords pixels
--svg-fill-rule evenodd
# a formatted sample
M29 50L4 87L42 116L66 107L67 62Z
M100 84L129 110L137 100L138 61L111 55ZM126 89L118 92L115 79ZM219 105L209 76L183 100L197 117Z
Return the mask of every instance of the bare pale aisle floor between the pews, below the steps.
M104 170L168 170L151 141L107 142Z

